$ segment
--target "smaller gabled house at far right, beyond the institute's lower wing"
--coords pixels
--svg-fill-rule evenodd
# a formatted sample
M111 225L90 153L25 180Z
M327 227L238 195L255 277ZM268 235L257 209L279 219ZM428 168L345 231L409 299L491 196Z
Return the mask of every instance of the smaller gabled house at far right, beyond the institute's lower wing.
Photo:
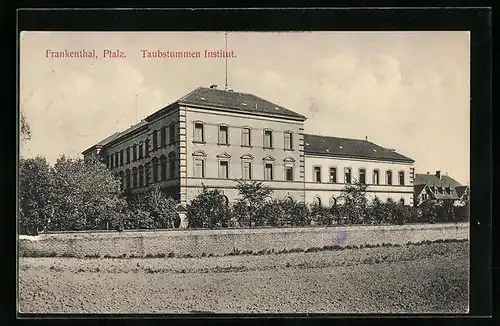
M417 173L413 184L413 202L415 206L419 206L427 200L450 200L455 205L463 206L468 199L468 188L448 175L441 175L441 171L436 171L435 174Z

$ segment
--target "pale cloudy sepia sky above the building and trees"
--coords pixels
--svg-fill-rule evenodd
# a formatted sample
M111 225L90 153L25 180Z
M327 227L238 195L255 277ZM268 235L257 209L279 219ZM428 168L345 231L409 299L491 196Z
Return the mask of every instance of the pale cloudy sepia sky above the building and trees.
M228 85L304 114L306 133L368 137L414 159L416 173L440 170L469 184L469 45L465 31L229 32ZM19 102L32 139L21 156L82 157L199 86L224 87L225 59L203 56L224 47L224 32L22 32Z

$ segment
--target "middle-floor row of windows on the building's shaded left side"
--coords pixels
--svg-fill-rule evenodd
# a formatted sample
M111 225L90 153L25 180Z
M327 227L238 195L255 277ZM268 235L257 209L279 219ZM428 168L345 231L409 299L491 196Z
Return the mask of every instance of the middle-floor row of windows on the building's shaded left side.
M151 163L134 167L132 170L127 169L125 171L120 171L116 175L121 180L121 189L148 186L151 182L155 183L176 179L176 162L177 159L173 155L170 155L169 158L162 155L160 159L154 157Z

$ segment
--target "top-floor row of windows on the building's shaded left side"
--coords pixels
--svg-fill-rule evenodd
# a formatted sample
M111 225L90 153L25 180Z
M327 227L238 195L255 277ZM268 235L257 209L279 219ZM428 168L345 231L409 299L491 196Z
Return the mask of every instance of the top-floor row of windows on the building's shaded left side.
M173 144L175 142L175 130L176 125L174 123L171 123L168 127L163 126L159 130L154 130L152 137L152 150L155 151L166 147L167 145ZM160 141L158 141L158 138L160 138ZM141 141L139 144L134 144L116 153L109 154L107 156L106 165L110 169L117 168L124 166L125 164L129 164L130 162L136 162L137 160L141 160L145 157L150 157L150 153L151 144L150 139L147 138L144 143Z

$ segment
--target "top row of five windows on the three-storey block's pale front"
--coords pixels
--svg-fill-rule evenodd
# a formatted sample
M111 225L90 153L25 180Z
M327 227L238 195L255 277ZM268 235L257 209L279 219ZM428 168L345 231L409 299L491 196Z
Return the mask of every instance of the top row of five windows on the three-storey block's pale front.
M219 145L229 145L229 127L227 125L219 125L218 134L218 144ZM285 131L284 133L284 144L283 148L285 150L293 150L293 133L290 131ZM194 137L193 141L195 143L205 143L205 124L203 122L194 123ZM251 147L253 143L252 130L248 127L241 128L241 146ZM273 131L270 129L264 129L262 146L264 148L274 148Z

